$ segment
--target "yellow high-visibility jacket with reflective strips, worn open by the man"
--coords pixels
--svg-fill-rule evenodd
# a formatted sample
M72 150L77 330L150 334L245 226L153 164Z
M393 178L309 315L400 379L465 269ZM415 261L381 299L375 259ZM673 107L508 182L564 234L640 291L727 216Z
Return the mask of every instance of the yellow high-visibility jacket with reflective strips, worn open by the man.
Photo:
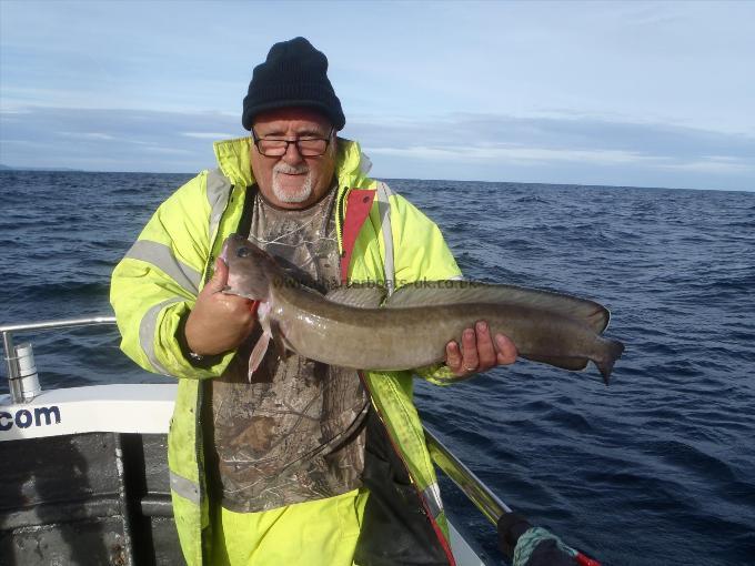
M338 148L335 222L344 279L389 286L459 279L437 226L387 185L366 176L369 161L356 142L340 139ZM249 138L218 142L214 149L219 169L203 171L160 205L115 267L110 295L123 352L150 372L179 378L169 465L175 524L190 565L207 562L211 539L201 423L203 381L219 376L235 354L229 352L214 365L197 367L187 360L177 332L182 332L210 279L223 241L250 208L246 195L254 184ZM424 522L419 532L430 533L431 539L419 544L435 545L435 556L442 557L437 563L453 564L435 473L412 402L412 374L361 374L374 413L414 487L413 504L421 512L414 515ZM421 374L437 384L455 380L445 366ZM380 544L373 542L372 547Z

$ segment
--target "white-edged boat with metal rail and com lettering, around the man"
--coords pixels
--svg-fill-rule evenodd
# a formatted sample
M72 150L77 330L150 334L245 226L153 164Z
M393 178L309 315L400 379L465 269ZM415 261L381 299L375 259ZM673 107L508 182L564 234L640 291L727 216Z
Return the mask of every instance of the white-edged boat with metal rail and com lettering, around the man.
M3 566L183 564L167 461L177 386L42 390L31 343L14 344L16 333L113 324L95 316L0 326L10 391L0 395ZM485 517L495 525L511 513L433 432L425 436L435 465ZM453 523L450 534L459 566L484 564Z

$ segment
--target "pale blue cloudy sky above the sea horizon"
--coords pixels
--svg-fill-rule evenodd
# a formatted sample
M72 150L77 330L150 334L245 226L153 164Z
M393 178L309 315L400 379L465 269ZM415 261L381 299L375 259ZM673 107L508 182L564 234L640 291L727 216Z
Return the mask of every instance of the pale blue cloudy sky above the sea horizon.
M0 0L0 164L212 168L296 36L374 176L755 190L755 1Z

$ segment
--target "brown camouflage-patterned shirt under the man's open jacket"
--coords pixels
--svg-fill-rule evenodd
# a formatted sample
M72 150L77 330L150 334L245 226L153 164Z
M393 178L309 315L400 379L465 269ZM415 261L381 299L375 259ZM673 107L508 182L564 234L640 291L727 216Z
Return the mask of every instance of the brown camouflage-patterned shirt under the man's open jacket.
M339 281L335 193L286 211L258 194L252 214L250 240L320 291ZM210 457L222 506L260 512L360 487L369 401L356 372L295 354L281 360L271 341L250 377L249 355L260 335L258 325L225 373L212 380Z

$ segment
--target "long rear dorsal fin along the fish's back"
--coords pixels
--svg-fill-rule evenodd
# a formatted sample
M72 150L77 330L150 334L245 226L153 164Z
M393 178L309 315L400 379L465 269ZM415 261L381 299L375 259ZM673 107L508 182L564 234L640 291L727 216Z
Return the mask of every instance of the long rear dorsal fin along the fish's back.
M386 301L385 307L429 306L444 304L497 303L541 309L586 324L593 332L601 333L608 325L611 313L603 305L553 291L496 285L477 281L426 281L410 283Z

